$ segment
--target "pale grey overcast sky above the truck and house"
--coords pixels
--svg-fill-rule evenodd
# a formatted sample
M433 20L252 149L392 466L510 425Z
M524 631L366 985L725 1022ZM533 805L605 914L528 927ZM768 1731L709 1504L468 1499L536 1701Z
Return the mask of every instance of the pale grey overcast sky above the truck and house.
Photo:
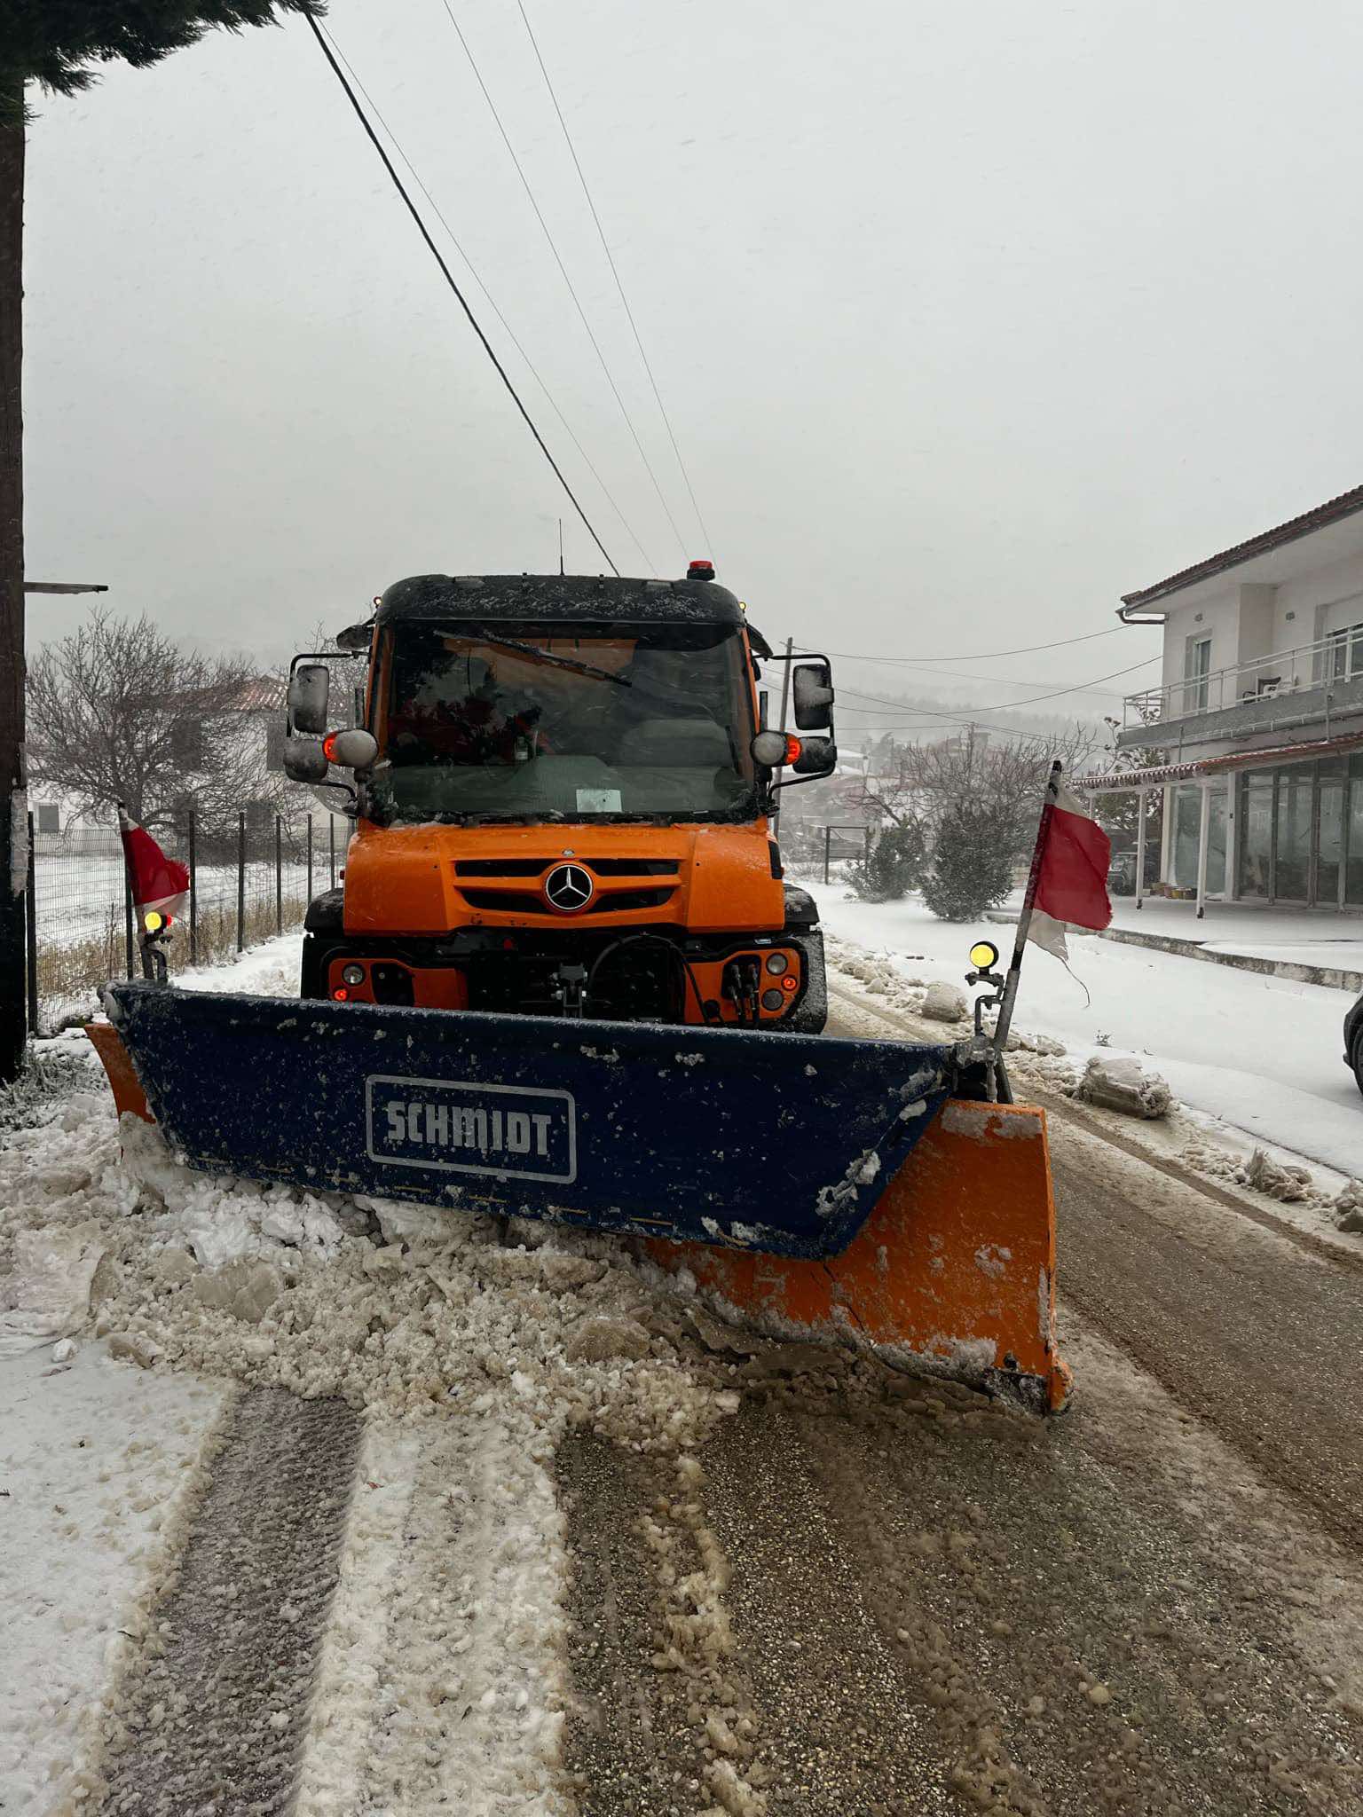
M771 638L960 656L1103 630L1363 480L1347 0L525 0L711 547L516 0L451 4L682 545L443 0L329 25L647 551L471 285L623 572L711 554ZM302 20L40 96L29 160L31 578L276 661L403 574L552 569L560 514L600 571ZM33 641L82 611L31 600Z

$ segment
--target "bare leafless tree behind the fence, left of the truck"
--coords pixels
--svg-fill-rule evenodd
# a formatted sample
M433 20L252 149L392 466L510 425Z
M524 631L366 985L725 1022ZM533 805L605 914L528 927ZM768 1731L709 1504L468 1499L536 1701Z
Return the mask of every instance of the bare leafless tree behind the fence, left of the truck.
M194 809L207 838L254 803L274 812L285 781L271 769L258 716L274 690L242 656L204 656L149 618L93 612L29 665L33 776L105 816L124 801L149 830Z

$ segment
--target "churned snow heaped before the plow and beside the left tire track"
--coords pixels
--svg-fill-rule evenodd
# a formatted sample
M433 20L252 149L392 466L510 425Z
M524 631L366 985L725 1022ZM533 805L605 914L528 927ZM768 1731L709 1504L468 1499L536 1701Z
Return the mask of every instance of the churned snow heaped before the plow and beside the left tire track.
M298 947L182 983L294 992ZM5 1606L35 1661L0 1704L0 1804L49 1812L73 1782L98 1788L160 1646L142 1621L165 1579L158 1535L184 1539L176 1495L240 1385L343 1399L367 1428L300 1810L380 1810L402 1784L420 1808L558 1817L554 1446L583 1426L694 1455L738 1394L692 1305L685 1281L585 1232L507 1243L489 1217L189 1174L154 1130L120 1132L91 1056L85 1083L0 1145L0 1399L22 1410L0 1506L27 1530ZM58 1363L73 1330L82 1348Z

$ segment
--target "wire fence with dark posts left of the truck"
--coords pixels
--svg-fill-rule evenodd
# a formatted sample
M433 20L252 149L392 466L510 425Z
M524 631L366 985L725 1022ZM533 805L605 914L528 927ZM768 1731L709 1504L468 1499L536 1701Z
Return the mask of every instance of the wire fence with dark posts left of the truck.
M205 832L196 816L156 829L167 858L189 869L189 903L167 948L171 972L218 965L300 927L313 896L338 881L351 823L240 812L236 829ZM116 827L36 832L29 816L29 1025L47 1032L87 1012L109 978L142 974L133 899Z

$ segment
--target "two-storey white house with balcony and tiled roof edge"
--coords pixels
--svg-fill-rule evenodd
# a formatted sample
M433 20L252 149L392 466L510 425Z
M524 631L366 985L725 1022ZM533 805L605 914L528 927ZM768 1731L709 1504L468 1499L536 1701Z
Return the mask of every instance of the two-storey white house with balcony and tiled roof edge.
M1363 487L1123 594L1163 625L1116 774L1165 792L1159 881L1205 899L1363 910ZM1156 769L1121 770L1154 749ZM1141 816L1141 827L1145 818Z

